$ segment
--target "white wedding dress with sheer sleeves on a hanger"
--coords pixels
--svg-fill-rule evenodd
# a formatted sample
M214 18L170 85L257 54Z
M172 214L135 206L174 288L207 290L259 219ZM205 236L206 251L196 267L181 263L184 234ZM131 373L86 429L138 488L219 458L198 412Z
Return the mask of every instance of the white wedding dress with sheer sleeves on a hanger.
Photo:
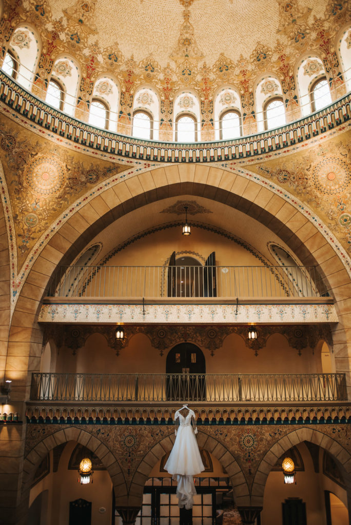
M196 494L193 476L200 474L200 472L205 469L195 438L195 434L198 433L195 426L195 414L192 410L189 410L188 414L184 417L180 413L180 410L178 410L174 415L174 421L179 425L175 430L176 441L174 442L167 463L164 465L164 469L167 470L169 474L172 474L173 479L177 481L179 507L191 509L193 506L193 496Z

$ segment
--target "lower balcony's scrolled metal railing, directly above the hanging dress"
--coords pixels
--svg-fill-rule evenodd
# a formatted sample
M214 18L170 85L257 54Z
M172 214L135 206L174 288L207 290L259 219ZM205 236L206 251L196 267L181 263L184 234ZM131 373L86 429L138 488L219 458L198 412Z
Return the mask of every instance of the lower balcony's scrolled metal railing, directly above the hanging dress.
M32 374L31 401L346 401L345 374Z

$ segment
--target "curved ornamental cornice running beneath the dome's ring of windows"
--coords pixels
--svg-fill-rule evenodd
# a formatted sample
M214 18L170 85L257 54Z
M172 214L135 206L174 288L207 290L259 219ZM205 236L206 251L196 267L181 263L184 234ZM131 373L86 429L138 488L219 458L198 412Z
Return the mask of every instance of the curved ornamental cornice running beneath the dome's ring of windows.
M251 158L317 137L351 117L351 95L322 111L288 123L282 128L231 141L199 142L195 146L134 139L96 128L68 117L17 85L0 71L0 100L32 122L60 137L98 151L152 162L218 162Z

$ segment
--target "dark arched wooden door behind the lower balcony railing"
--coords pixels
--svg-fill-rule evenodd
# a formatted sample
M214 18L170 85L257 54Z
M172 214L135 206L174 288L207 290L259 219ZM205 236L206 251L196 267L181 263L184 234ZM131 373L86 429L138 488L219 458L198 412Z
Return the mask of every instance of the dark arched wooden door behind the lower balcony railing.
M166 360L168 401L204 401L206 398L205 357L198 346L180 343Z

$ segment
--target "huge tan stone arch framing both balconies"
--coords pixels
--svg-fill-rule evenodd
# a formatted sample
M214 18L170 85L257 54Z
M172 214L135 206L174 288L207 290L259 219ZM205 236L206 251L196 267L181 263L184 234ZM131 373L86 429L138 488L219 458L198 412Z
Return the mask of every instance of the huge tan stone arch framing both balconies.
M180 164L144 172L108 188L87 201L45 245L20 291L9 332L8 354L16 355L8 363L21 377L20 388L26 387L28 392L30 373L39 369L42 333L37 316L45 287L57 265L72 261L102 228L129 211L184 194L207 197L239 209L273 229L303 264L318 265L335 298L339 316L333 332L337 372L345 372L350 385L351 280L333 239L322 234L312 217L307 218L270 188L218 167Z

